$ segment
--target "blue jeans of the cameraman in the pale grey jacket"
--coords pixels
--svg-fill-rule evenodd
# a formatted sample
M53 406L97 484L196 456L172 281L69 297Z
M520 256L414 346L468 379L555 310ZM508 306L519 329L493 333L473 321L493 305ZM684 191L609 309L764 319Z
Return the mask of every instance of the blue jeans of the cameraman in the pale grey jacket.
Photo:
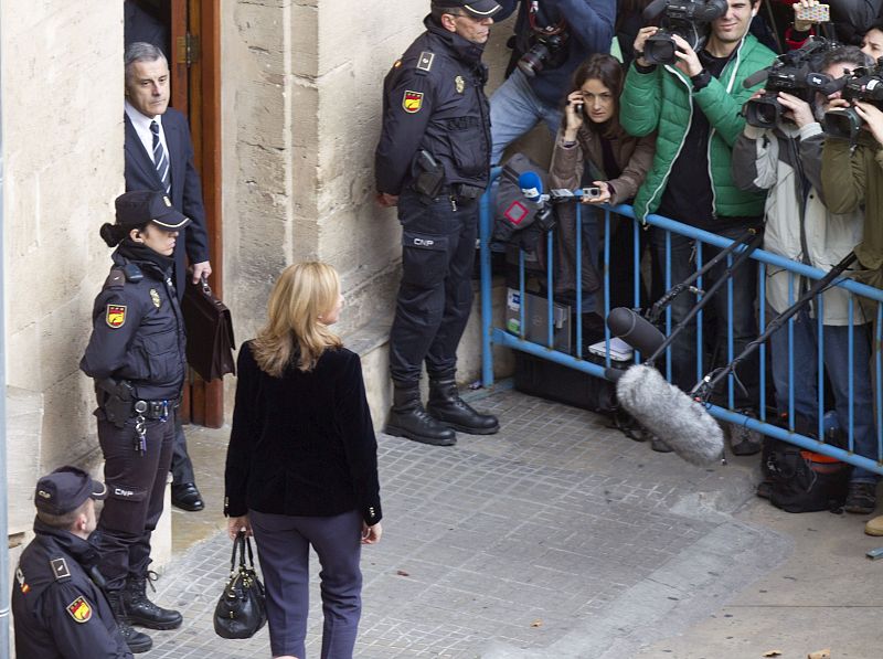
M852 366L852 432L853 451L876 459L876 433L874 431L874 403L871 387L871 326L852 328L852 362L849 359L848 326L826 325L822 328L825 372L834 394L834 410L840 426L848 431L850 396L849 371ZM794 384L788 379L788 325L783 326L769 339L773 380L776 385L776 404L780 413L788 412L788 392L794 393L795 413L806 417L810 427L818 426L818 321L807 310L794 318ZM876 482L877 476L860 467L852 469L853 482Z

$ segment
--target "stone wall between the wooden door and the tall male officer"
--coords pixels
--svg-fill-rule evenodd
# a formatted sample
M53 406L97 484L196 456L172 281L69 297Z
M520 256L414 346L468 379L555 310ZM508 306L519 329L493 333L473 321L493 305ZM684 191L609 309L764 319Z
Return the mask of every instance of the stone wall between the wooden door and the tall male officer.
M395 212L373 202L382 82L423 30L428 4L223 6L225 297L237 338L262 325L283 267L304 258L331 263L347 297L338 330L363 355L377 425L389 404L385 340L401 266ZM510 31L501 25L488 46L489 89L502 79ZM461 344L464 381L479 372L476 321Z

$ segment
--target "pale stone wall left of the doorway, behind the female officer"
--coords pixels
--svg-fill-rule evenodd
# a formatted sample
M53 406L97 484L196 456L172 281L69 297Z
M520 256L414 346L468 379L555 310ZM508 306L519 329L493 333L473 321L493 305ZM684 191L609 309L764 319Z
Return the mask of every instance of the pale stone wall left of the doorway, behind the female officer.
M124 189L123 4L8 0L0 24L7 378L29 425L7 447L19 532L38 474L98 459L77 364L109 266L98 227Z

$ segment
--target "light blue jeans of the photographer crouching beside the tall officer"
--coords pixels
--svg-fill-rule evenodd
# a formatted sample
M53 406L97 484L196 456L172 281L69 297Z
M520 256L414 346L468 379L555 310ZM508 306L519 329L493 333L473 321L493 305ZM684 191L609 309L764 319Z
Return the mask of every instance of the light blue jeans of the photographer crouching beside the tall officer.
M515 68L490 97L491 164L499 164L506 147L541 120L555 135L561 117L561 110L540 100L531 89L528 77Z

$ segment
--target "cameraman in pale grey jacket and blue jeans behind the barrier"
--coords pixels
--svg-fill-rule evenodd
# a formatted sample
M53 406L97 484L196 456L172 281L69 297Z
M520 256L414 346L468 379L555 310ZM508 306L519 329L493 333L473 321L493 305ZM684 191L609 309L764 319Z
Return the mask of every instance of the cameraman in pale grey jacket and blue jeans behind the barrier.
M808 45L812 45L810 42ZM827 47L827 46L825 46ZM825 204L821 190L821 150L825 135L820 119L829 104L836 103L839 92L833 81L844 73L866 64L866 56L855 46L827 47L820 56L818 49L801 49L802 61L785 61L769 72L767 86L783 81L804 79L788 92L775 93L781 108L773 125L753 121L748 115L745 130L733 147L733 179L748 191L768 191L766 198L766 225L764 249L786 258L828 270L840 263L862 240L864 213L861 209L837 214ZM795 51L795 54L800 51ZM790 55L790 54L789 54ZM819 72L809 75L789 75L795 71ZM819 89L813 77L828 81ZM769 100L770 92L762 89L752 100ZM769 106L762 106L769 107ZM763 117L760 117L763 119ZM758 125L759 124L759 125ZM766 300L773 318L789 307L807 286L804 279L794 279L787 270L768 266L766 270ZM794 395L795 427L818 427L819 341L821 340L825 372L831 382L837 416L850 417L853 411L854 450L871 457L876 444L873 418L873 395L870 371L871 317L862 309L854 312L850 327L849 293L830 288L822 295L820 306L823 330L819 336L816 317L819 306L800 311L790 329L783 327L769 340L773 380L779 414L788 413L789 394ZM850 360L850 334L852 359ZM792 354L794 378L789 378L789 347ZM850 371L852 397L850 400ZM855 468L852 470L844 509L848 512L868 513L875 504L876 477ZM769 483L760 483L758 496L769 496Z

